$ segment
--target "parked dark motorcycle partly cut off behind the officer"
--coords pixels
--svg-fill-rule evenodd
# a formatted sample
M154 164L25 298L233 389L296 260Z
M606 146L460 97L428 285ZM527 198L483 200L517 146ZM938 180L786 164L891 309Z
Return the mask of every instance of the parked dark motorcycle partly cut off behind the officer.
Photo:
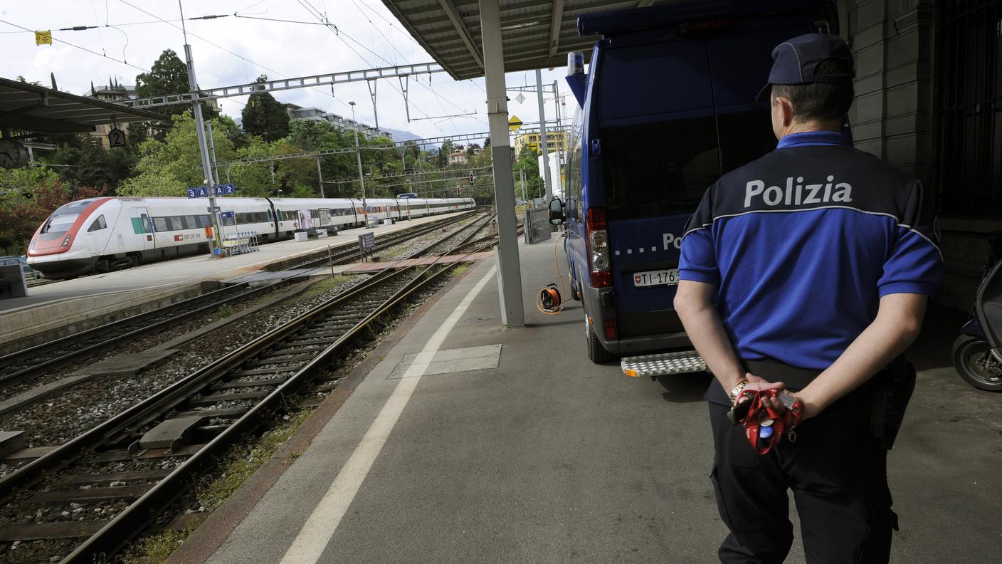
M953 364L971 385L1002 391L1002 235L991 238L992 257L985 266L971 318L953 343Z

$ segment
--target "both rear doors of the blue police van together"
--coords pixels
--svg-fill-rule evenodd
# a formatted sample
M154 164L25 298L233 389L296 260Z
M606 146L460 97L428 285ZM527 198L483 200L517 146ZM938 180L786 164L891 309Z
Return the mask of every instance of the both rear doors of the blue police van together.
M621 54L609 49L602 61L605 73L614 64L643 77L636 88L622 87L636 83L633 78L602 91L603 181L619 338L682 330L672 300L688 217L721 175L776 147L768 107L755 97L769 76L772 49L811 29L802 17L783 16L743 28L624 47ZM662 92L656 107L641 99L654 97L644 93L648 88ZM610 99L620 108L609 108Z

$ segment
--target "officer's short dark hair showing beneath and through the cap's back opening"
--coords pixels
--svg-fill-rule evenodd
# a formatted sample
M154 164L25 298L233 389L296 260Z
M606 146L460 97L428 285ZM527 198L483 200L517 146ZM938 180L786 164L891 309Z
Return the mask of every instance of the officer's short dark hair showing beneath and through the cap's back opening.
M818 63L819 74L845 74L851 72L842 59L826 59ZM783 96L794 106L794 119L811 121L842 119L855 97L852 81L812 82L810 84L773 84L773 96Z

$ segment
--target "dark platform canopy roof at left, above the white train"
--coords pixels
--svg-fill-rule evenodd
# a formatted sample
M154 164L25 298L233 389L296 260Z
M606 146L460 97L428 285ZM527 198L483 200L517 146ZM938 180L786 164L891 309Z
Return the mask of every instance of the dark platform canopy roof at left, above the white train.
M93 131L97 125L163 119L162 113L0 78L0 127L25 133Z

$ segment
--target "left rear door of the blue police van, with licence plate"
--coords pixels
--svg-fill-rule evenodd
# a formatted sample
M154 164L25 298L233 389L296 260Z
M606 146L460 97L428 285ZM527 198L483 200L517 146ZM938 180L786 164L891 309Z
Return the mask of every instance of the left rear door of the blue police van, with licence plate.
M601 88L617 335L681 331L671 311L678 240L706 187L720 175L706 42L610 48L602 60Z

